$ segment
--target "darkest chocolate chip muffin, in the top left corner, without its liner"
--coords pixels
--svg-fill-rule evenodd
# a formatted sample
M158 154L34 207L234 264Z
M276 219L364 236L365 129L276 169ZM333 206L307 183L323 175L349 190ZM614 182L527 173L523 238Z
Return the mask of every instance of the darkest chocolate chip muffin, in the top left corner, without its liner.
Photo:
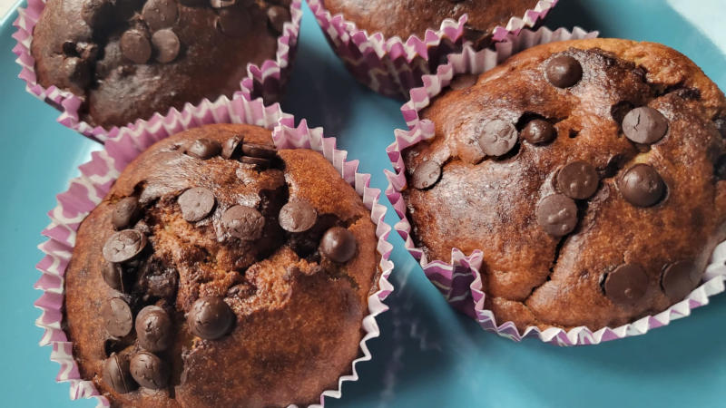
M275 59L289 0L49 0L34 28L37 81L73 92L110 128L231 96Z

